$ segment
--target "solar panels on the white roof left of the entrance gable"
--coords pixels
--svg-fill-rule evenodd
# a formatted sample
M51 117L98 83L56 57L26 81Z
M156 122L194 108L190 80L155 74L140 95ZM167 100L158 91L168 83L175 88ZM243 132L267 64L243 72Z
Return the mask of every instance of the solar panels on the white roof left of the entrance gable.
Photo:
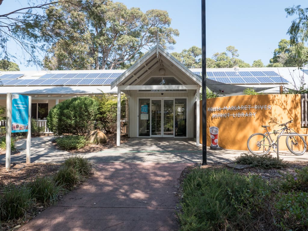
M68 85L110 85L122 73L63 73L46 74L39 79L16 79L0 76L0 85L4 86L68 86ZM23 75L23 74L22 74ZM22 75L13 75L21 77Z

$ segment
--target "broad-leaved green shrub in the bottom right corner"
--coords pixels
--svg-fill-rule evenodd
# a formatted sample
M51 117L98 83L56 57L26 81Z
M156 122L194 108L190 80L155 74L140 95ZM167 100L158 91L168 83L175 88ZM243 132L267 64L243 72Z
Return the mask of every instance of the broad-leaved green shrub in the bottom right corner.
M308 193L277 194L276 226L282 230L308 230Z

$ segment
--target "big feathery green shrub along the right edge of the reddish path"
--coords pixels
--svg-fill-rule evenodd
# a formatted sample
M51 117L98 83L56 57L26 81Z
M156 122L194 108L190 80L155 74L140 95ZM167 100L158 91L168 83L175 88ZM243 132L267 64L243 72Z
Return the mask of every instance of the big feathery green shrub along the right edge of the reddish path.
M263 206L270 195L265 186L228 169L193 170L183 182L180 230L258 230L269 209Z

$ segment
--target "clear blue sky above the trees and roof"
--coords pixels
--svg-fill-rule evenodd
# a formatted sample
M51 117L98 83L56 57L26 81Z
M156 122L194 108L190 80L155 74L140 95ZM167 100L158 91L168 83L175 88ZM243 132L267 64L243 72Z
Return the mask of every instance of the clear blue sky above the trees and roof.
M173 51L201 47L201 0L118 2L123 2L128 8L140 7L143 12L167 10L172 18L171 27L180 31ZM0 14L26 6L26 3L26 0L4 0ZM238 50L238 58L246 63L251 65L254 60L261 59L267 65L279 41L289 39L286 32L293 18L286 18L284 9L293 5L308 7L307 1L303 0L206 0L206 57L211 58L214 53L234 46ZM37 69L18 65L21 70Z

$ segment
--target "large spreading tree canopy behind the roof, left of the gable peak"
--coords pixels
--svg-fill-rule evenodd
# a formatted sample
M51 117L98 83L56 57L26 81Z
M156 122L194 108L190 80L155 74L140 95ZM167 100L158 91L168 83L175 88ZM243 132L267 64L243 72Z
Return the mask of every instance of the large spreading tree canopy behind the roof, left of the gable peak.
M60 2L46 10L47 19L38 22L54 41L44 67L49 70L116 69L135 62L142 49L156 43L171 48L179 31L170 27L165 10L128 9L111 0ZM46 38L47 39L47 38Z

